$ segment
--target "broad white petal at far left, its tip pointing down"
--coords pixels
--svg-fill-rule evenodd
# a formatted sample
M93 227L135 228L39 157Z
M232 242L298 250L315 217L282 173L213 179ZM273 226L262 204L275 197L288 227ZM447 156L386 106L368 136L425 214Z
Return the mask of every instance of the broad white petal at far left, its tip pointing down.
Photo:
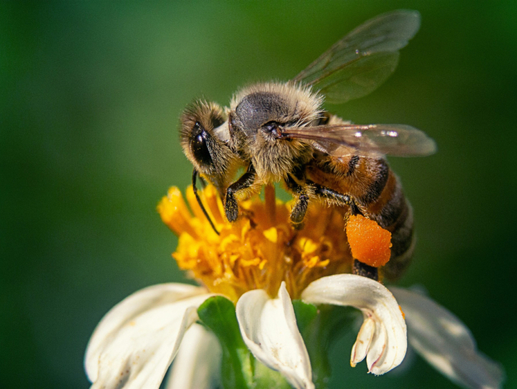
M158 284L118 303L102 318L87 347L92 388L158 388L206 289Z

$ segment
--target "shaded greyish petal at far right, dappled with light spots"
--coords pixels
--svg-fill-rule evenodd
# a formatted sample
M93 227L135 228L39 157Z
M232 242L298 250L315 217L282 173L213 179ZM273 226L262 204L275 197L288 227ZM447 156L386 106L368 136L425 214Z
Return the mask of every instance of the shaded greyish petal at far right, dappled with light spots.
M476 350L469 329L421 293L390 288L406 314L410 345L437 370L468 388L500 388L498 363Z

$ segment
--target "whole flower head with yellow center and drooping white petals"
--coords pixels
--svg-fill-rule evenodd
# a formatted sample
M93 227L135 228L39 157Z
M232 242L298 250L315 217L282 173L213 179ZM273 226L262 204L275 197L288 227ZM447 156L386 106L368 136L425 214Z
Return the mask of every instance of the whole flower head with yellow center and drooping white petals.
M352 366L366 359L373 374L397 367L406 354L407 320L410 344L435 368L472 388L500 386L500 369L475 351L468 329L444 308L399 288L392 289L397 302L380 282L350 274L352 255L339 208L314 204L306 227L293 230L289 204L275 199L269 187L264 202L241 202L242 217L233 224L224 218L214 188L208 186L201 197L219 235L192 189L190 210L171 188L158 211L179 235L173 257L202 286L154 285L111 309L87 347L92 388L158 388L175 357L168 388L211 388L228 350L198 323L200 307L215 296L235 304L242 341L255 359L294 388L315 386L291 299L361 310Z

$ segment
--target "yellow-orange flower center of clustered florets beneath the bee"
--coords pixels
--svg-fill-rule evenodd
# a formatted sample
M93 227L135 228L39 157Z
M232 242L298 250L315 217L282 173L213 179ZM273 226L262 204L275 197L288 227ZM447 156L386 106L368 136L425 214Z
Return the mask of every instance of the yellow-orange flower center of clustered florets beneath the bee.
M291 298L299 298L307 285L325 275L350 273L352 255L345 234L343 210L313 202L305 228L289 222L291 203L275 199L274 188L239 203L239 219L230 223L213 186L200 193L219 231L210 226L192 187L188 206L172 187L158 204L163 222L179 236L172 254L180 269L188 270L210 291L237 301L246 291L264 289L275 297L285 281Z

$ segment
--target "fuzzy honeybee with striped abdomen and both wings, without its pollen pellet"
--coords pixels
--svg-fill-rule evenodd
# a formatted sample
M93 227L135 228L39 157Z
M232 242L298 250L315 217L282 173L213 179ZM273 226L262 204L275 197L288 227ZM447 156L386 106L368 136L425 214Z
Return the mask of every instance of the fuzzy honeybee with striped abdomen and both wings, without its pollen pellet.
M379 15L289 82L245 87L226 109L197 102L185 110L181 144L194 165L194 188L198 175L214 183L229 221L239 216L238 199L276 182L295 198L290 215L294 228L302 228L313 199L342 207L345 215L373 219L392 233L392 256L383 274L397 278L415 239L410 204L385 155L426 156L435 152L435 143L414 127L356 125L322 105L324 99L343 103L379 87L419 24L416 11ZM246 172L232 182L238 168ZM378 277L377 269L358 261L354 273Z

